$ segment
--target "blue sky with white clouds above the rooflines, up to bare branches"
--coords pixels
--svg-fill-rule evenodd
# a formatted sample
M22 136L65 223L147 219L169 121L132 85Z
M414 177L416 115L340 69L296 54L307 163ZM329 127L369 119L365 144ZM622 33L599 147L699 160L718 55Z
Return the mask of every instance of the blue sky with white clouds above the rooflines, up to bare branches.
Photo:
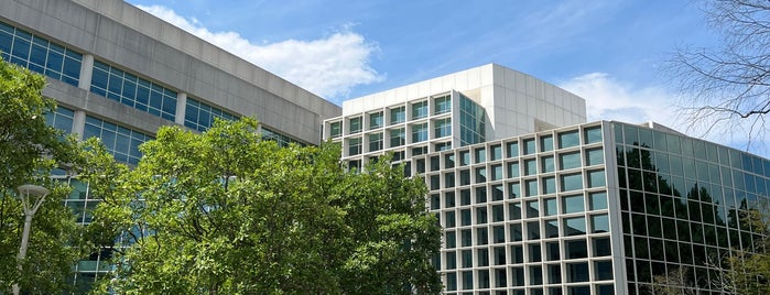
M584 97L588 120L695 136L661 67L677 47L718 44L688 0L128 2L338 105L496 63ZM741 149L731 131L706 139Z

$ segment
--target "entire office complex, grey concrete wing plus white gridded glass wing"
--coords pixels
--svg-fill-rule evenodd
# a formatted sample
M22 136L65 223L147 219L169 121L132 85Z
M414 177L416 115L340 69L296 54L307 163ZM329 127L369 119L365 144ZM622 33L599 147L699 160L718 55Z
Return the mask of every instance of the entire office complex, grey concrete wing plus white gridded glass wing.
M52 125L128 164L161 125L241 116L281 143L339 142L351 170L393 153L430 188L447 294L646 294L660 275L705 293L714 263L752 249L741 217L770 190L767 159L654 123L586 123L582 98L499 65L339 108L118 0L1 0L0 52L47 77ZM64 203L87 223L98 200L69 181ZM87 289L109 255L73 283Z

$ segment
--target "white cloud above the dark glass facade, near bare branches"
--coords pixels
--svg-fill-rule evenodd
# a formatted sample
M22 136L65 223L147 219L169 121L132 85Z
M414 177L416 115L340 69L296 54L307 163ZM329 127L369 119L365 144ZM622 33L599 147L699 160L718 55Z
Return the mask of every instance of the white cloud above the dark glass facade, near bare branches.
M714 117L693 121L682 109L688 100L660 86L640 87L614 79L606 73L590 73L564 81L558 87L586 99L588 121L653 121L687 135L739 150L749 149L760 155L768 152L761 138L749 138L752 134L749 121L726 122L717 121Z

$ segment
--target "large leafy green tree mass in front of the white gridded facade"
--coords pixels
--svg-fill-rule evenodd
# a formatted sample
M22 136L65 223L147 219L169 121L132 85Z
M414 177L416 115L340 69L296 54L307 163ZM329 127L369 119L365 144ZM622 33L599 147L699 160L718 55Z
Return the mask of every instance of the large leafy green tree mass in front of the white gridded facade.
M257 122L162 128L127 171L84 172L111 229L121 294L438 293L426 188L389 161L347 173L339 148L262 141ZM91 162L109 162L93 157ZM104 232L104 231L100 231Z

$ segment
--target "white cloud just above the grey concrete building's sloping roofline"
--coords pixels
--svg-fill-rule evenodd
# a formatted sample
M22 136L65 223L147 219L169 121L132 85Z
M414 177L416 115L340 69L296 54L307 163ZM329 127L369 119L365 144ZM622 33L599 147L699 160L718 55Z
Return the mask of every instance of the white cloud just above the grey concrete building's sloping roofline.
M318 40L256 44L236 32L212 32L196 19L185 19L162 6L139 8L337 103L353 87L383 79L369 66L377 44L350 28Z

